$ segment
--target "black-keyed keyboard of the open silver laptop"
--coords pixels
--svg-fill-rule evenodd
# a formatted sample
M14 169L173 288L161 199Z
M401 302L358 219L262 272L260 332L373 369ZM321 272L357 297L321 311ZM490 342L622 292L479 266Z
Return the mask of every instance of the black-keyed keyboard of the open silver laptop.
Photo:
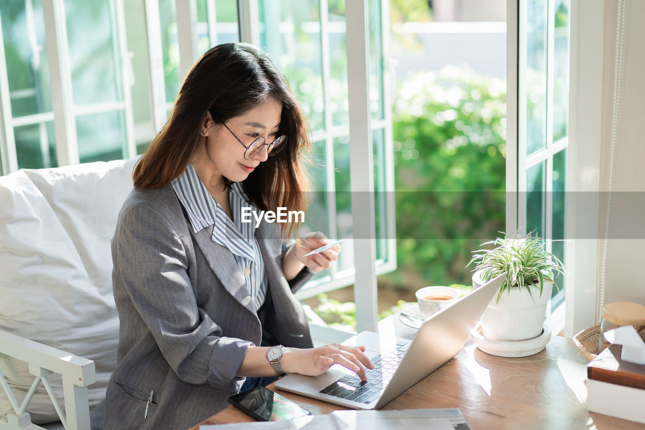
M390 383L392 375L399 367L412 341L397 342L397 349L372 358L373 369L365 369L367 380L361 381L358 375L343 376L332 384L327 385L319 393L346 398L354 402L368 404L381 396L381 391Z

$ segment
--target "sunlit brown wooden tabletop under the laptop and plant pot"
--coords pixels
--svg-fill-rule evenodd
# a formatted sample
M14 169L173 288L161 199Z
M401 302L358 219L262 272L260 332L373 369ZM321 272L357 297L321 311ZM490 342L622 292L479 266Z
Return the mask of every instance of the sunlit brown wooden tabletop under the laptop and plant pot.
M394 330L412 339L415 331L397 315L373 331ZM552 336L546 349L533 356L501 358L482 353L472 342L382 409L459 407L476 429L645 429L645 425L587 411L588 360L571 339ZM267 386L313 414L325 414L339 405L314 400ZM645 407L645 405L644 405ZM228 407L200 424L251 422L253 418ZM190 430L198 430L195 425Z

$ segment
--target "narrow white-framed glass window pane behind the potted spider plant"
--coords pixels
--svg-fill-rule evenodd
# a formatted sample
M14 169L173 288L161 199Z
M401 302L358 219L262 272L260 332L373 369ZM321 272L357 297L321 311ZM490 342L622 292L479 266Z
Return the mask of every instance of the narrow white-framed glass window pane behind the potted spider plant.
M519 8L519 9L517 9ZM517 198L507 203L507 229L535 230L547 240L546 248L564 261L564 178L568 147L569 111L569 10L568 0L523 0L509 5L508 16L517 16L517 46L509 47L509 76L517 76L517 154L508 163L507 189ZM509 43L513 38L510 34ZM518 56L519 62L515 61ZM515 108L509 107L509 113ZM509 121L511 124L512 121ZM513 147L514 145L509 145ZM551 311L564 302L564 278L556 280ZM564 307L561 308L561 311ZM564 328L561 318L559 329Z

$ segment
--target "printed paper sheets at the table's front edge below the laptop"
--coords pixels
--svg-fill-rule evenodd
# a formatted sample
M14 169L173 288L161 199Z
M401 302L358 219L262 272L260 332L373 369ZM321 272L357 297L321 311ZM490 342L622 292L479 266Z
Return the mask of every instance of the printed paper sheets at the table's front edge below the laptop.
M200 430L469 430L459 409L406 409L403 411L334 411L329 415L301 416L284 421L201 425Z

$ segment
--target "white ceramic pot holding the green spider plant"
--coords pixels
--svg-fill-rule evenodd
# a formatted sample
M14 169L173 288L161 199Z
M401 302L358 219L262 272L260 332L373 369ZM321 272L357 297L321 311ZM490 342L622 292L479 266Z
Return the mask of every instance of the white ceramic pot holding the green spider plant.
M479 272L473 274L473 288L484 282ZM542 334L546 304L551 298L553 282L544 282L542 295L539 287L531 285L531 294L526 288L512 287L504 291L497 302L493 296L482 314L482 334L491 340L527 340Z

